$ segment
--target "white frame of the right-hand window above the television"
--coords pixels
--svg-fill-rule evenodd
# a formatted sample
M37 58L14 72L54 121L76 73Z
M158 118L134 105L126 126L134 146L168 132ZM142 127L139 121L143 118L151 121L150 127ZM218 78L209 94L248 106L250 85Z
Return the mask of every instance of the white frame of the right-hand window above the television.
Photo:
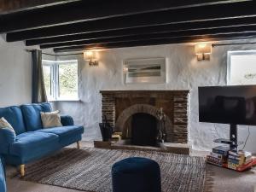
M231 50L228 51L228 61L227 61L227 77L226 77L226 84L227 85L237 85L237 84L231 84L230 83L230 67L231 67L231 56L233 55L256 55L256 49L255 50Z

